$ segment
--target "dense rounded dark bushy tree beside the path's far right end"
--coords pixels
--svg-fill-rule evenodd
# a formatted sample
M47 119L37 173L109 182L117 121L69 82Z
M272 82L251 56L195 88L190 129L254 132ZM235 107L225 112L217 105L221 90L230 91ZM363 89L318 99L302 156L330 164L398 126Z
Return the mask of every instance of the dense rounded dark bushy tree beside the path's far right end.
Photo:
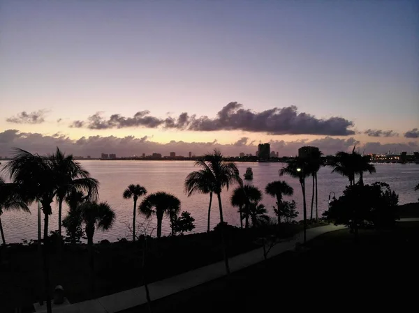
M335 224L345 224L351 229L365 227L392 227L397 219L399 196L387 183L346 186L344 194L332 201L323 215Z

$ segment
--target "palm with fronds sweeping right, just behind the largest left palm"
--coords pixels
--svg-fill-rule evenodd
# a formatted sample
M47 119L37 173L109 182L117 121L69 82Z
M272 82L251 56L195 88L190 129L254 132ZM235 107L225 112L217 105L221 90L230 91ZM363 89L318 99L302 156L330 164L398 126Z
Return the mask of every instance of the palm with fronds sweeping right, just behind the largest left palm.
M83 169L79 162L76 162L73 155L65 155L57 147L57 151L50 155L52 167L57 174L57 201L58 201L58 234L61 238L61 214L63 201L66 195L72 190L85 191L91 201L98 198L99 182L89 177L89 171Z

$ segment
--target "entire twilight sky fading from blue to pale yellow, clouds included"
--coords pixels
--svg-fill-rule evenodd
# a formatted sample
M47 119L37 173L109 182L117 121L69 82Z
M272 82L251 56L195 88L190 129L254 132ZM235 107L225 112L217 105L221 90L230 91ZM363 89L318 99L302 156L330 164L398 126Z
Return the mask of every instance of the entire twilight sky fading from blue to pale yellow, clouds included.
M419 150L418 1L0 0L0 155Z

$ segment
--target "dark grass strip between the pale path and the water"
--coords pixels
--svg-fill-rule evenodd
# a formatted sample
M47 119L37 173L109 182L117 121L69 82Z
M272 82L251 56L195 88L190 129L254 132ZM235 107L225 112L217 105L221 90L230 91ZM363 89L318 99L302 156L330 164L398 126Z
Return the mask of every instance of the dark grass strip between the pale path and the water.
M311 227L316 224L311 225ZM288 238L301 231L299 224L268 225L258 229L230 228L227 231L230 257L252 250L256 238L275 235ZM91 298L87 245L65 246L62 254L50 252L51 289L61 284L71 303ZM191 234L153 239L150 243L147 275L149 282L199 268L223 257L221 236ZM142 242L95 245L94 298L141 286ZM43 292L36 245L1 248L0 312L20 306L29 310ZM52 290L51 290L52 291Z

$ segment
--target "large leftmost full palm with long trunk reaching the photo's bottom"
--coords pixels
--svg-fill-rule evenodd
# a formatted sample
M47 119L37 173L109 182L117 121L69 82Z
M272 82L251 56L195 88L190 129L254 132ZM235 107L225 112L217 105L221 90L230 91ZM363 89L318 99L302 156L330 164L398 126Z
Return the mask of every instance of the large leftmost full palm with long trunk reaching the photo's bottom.
M47 312L52 312L50 297L50 273L47 258L48 251L48 221L52 213L51 203L57 195L59 177L51 158L32 154L22 149L15 149L12 160L3 167L8 171L13 183L20 185L25 191L28 203L39 201L42 204L44 214L44 243L42 249L43 272L45 278L45 298Z

